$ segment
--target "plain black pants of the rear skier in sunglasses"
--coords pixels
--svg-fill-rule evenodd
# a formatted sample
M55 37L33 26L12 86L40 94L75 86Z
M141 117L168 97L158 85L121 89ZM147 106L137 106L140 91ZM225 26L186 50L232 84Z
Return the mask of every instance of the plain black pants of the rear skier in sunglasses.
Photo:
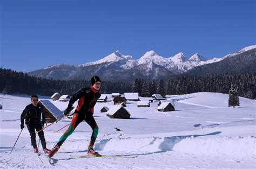
M43 129L42 125L41 125L41 123L30 123L30 124L26 124L26 127L28 128L29 133L30 133L31 145L35 149L37 147L35 129L36 129L36 131L39 131L39 130ZM46 142L45 142L45 138L44 138L44 131L42 130L42 131L38 132L37 134L38 134L38 136L41 140L41 144L43 146L43 149L45 149L46 148Z

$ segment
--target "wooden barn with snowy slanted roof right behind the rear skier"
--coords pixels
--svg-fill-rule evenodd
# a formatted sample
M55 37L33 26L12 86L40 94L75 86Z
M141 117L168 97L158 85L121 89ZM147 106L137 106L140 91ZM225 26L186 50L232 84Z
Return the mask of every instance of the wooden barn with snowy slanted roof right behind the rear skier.
M40 100L38 102L42 105L45 112L45 123L53 123L58 118L64 116L63 112L60 111L54 104L52 104L49 100Z

